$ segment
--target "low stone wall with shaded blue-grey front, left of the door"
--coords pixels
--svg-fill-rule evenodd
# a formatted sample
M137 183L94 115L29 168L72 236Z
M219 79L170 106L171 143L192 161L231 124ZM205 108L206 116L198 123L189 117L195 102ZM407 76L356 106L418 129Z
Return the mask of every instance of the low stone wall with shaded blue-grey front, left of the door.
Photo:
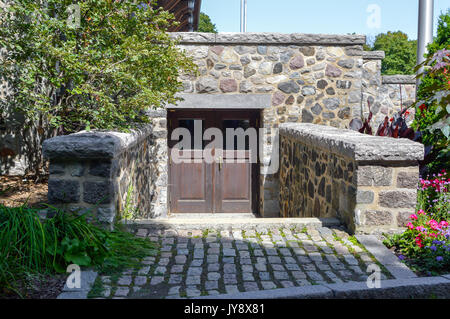
M160 175L157 138L148 125L130 133L92 131L46 140L49 203L92 211L104 224L116 217L154 217Z

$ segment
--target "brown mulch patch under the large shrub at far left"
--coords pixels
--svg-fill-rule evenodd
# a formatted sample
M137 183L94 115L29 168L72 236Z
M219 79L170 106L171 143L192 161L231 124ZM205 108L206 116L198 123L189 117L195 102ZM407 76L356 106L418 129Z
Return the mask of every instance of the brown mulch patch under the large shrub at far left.
M47 202L47 177L35 182L33 177L0 176L0 205L39 207Z

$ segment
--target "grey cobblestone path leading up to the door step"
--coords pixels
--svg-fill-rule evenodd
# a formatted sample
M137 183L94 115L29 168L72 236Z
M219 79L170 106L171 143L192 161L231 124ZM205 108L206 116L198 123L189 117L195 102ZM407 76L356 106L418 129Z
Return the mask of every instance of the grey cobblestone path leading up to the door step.
M158 254L120 276L100 274L94 298L185 298L366 281L377 263L340 229L148 230ZM383 267L381 267L383 269ZM383 270L382 279L392 276Z

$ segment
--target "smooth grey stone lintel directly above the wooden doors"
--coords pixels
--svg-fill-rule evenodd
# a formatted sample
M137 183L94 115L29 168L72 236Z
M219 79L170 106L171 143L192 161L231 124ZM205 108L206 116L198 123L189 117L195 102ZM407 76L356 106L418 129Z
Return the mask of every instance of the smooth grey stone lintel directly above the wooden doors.
M183 101L172 109L265 109L271 106L270 94L178 94Z

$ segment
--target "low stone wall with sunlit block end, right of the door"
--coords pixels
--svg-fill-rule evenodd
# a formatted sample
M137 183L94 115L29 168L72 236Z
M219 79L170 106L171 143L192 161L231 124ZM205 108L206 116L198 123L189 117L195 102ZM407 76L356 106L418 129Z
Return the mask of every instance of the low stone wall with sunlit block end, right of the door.
M280 125L280 213L392 231L416 205L420 143L314 124Z

